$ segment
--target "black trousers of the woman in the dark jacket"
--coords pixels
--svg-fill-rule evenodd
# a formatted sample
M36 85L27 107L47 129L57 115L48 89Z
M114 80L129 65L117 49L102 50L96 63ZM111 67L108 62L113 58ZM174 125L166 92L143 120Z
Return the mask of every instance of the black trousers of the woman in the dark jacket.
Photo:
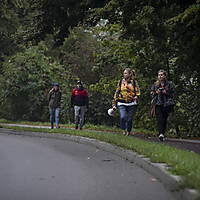
M169 112L166 111L166 109L163 106L156 105L155 113L157 119L158 132L159 134L162 133L164 135L167 128L167 118Z

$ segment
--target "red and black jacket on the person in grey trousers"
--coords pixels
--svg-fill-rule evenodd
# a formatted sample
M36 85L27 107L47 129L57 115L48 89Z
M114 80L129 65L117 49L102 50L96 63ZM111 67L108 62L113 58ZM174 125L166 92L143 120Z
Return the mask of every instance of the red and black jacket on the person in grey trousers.
M88 107L88 94L83 87L81 88L76 87L72 91L71 107L73 106L87 106Z

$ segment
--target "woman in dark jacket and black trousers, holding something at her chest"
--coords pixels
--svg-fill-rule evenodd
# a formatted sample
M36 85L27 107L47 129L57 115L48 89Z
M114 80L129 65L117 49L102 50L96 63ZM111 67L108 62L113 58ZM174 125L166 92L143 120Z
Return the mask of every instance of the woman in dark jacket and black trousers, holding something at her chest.
M152 102L155 106L155 115L160 141L164 140L167 128L167 118L175 105L173 101L174 87L172 82L167 80L165 70L158 71L158 79L151 88Z

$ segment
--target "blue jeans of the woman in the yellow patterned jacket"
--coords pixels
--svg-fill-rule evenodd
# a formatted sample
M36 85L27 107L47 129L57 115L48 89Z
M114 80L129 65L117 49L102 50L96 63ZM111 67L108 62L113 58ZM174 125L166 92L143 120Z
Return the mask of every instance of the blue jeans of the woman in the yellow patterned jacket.
M120 128L131 132L133 124L133 116L136 112L136 105L133 106L118 106L119 115L120 115Z

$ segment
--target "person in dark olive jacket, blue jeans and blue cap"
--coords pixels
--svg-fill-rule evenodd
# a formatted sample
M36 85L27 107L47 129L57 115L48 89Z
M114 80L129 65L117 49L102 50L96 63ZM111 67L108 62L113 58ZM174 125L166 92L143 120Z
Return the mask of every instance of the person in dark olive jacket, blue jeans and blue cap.
M50 113L50 123L51 128L54 128L53 118L55 115L56 128L59 126L59 113L60 113L60 102L61 102L61 91L58 83L54 83L53 88L49 91L48 101L49 101L49 113Z

